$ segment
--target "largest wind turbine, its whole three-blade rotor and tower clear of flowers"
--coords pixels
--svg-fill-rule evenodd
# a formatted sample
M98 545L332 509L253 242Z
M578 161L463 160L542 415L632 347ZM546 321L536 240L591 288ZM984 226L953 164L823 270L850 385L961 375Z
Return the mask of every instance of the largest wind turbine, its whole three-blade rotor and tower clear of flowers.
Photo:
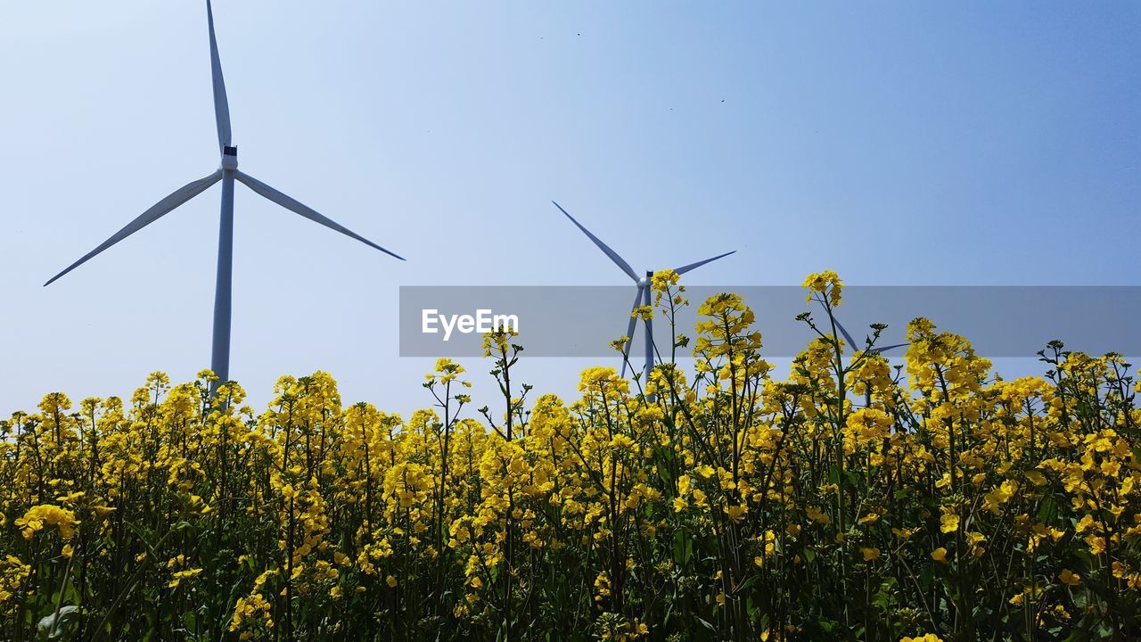
M369 239L365 239L331 218L322 216L316 210L283 194L282 192L278 192L249 174L238 171L237 147L230 142L229 103L226 101L226 83L221 77L221 61L218 57L218 40L215 38L213 8L210 5L210 0L207 0L207 24L210 30L210 71L213 79L215 120L218 123L218 149L221 152L221 166L213 174L204 178L199 178L197 180L175 190L173 193L152 206L151 209L144 211L138 218L128 223L127 226L119 232L115 232L115 234L104 241L99 247L87 252L75 263L68 265L66 270L52 276L43 286L50 286L54 281L64 274L67 274L72 270L75 270L91 257L162 218L162 216L201 194L208 187L220 180L221 222L218 230L218 279L215 286L213 345L210 353L210 369L218 376L219 382L227 382L229 380L230 294L234 267L235 179L244 183L258 195L293 211L294 214L356 239L362 243L375 248L389 256L396 257L400 260L404 260L404 258L386 250L377 243L373 243Z

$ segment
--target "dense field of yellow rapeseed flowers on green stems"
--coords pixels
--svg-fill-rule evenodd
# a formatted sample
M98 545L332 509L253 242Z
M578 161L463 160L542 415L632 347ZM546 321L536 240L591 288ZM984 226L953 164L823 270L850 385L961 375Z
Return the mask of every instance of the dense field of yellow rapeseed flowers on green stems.
M0 423L0 640L1141 639L1132 367L1055 343L1004 380L924 319L893 366L834 338L834 273L804 284L786 380L720 295L648 382L574 400L503 334L407 418L325 372L260 412L210 372L49 394ZM672 324L685 288L654 290Z

